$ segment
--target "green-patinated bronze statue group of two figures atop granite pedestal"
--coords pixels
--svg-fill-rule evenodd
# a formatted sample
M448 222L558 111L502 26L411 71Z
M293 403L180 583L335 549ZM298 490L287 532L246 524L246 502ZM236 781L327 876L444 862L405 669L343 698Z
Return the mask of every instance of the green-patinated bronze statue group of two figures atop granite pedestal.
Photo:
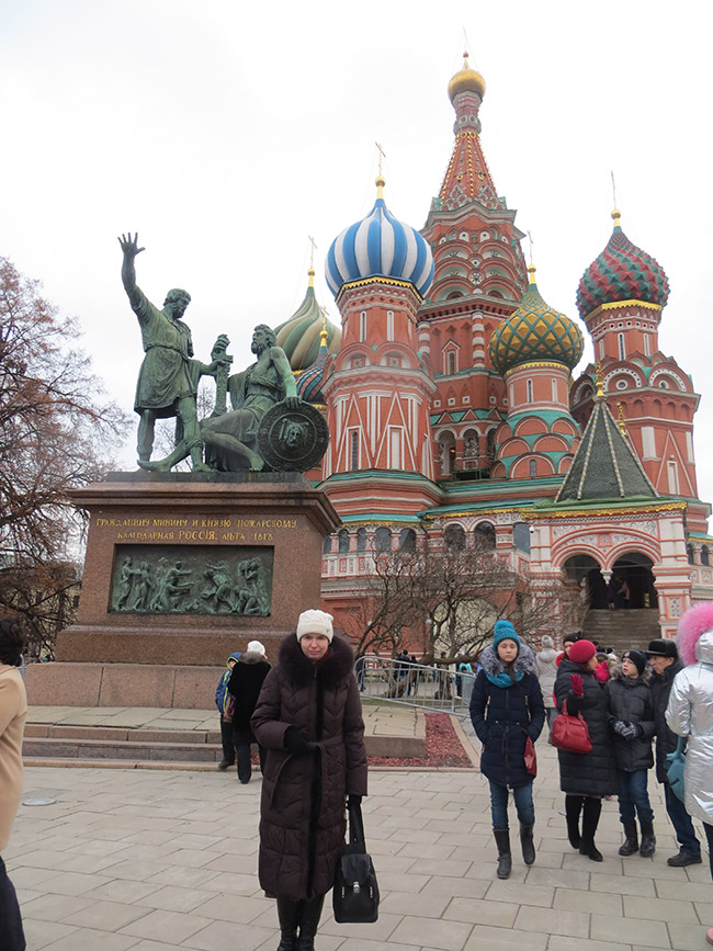
M233 358L226 353L229 341L223 333L215 341L210 364L194 360L191 331L181 319L190 295L178 288L169 291L159 310L136 284L134 259L144 250L138 247L138 235L123 235L118 242L124 252L122 281L146 353L134 400L140 417L139 466L170 472L189 456L193 472L306 472L316 465L327 449L327 424L317 409L297 396L290 361L278 347L274 331L264 324L254 328L250 349L257 361L241 373L228 375ZM216 398L213 414L199 422L196 392L202 376L215 378ZM177 418L176 448L165 458L151 461L154 424L167 417ZM125 573L126 585L133 585L136 568L129 574L126 567ZM124 600L115 608L123 610Z

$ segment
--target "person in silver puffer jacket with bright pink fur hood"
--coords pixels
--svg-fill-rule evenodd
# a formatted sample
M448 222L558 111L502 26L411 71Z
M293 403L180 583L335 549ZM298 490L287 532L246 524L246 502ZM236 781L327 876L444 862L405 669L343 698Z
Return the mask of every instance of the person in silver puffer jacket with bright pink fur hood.
M703 823L713 878L713 602L695 604L683 614L676 643L689 666L674 679L666 722L674 733L688 737L686 811ZM713 928L705 937L713 944Z

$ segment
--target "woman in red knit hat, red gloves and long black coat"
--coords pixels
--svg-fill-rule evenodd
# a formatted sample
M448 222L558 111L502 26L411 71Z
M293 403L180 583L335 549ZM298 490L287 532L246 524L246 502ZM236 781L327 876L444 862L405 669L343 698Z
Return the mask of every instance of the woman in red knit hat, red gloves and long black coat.
M563 659L555 680L557 710L581 714L589 729L590 752L559 749L559 789L565 793L567 835L573 849L601 862L595 845L603 796L618 792L616 771L609 735L608 699L595 676L597 648L591 641L577 641ZM579 816L581 814L581 831Z

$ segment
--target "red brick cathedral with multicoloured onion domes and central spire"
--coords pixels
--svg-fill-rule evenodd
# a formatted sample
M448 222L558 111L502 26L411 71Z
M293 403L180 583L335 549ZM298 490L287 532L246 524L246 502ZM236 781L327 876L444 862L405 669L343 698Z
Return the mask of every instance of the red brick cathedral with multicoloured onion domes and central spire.
M699 396L658 349L664 269L614 211L577 291L596 365L573 381L582 332L542 298L495 190L485 81L467 54L448 93L455 141L423 228L387 208L380 173L374 207L327 256L341 329L322 317L313 270L278 328L299 395L329 424L308 474L342 520L325 540L324 607L350 630L373 553L412 550L426 532L477 539L527 576L550 602L540 634L571 630L585 599L585 632L607 639L616 599L632 643L672 636L691 601L713 599L713 537L695 480Z

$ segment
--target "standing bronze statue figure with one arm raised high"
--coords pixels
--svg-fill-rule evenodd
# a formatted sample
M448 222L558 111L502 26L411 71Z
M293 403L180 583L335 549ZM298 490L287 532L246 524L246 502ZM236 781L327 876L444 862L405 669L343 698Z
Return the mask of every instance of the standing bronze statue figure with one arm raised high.
M138 235L122 235L118 239L124 252L122 281L132 309L142 328L142 342L146 353L138 372L134 409L139 415L138 464L147 468L154 448L154 426L157 419L177 418L176 441L188 449L194 472L204 472L203 444L197 420L196 393L201 376L215 375L217 361L206 366L192 360L193 342L188 325L181 317L191 295L174 287L169 291L163 309L159 310L136 284L134 259L144 248L138 247ZM149 464L150 465L150 464Z

